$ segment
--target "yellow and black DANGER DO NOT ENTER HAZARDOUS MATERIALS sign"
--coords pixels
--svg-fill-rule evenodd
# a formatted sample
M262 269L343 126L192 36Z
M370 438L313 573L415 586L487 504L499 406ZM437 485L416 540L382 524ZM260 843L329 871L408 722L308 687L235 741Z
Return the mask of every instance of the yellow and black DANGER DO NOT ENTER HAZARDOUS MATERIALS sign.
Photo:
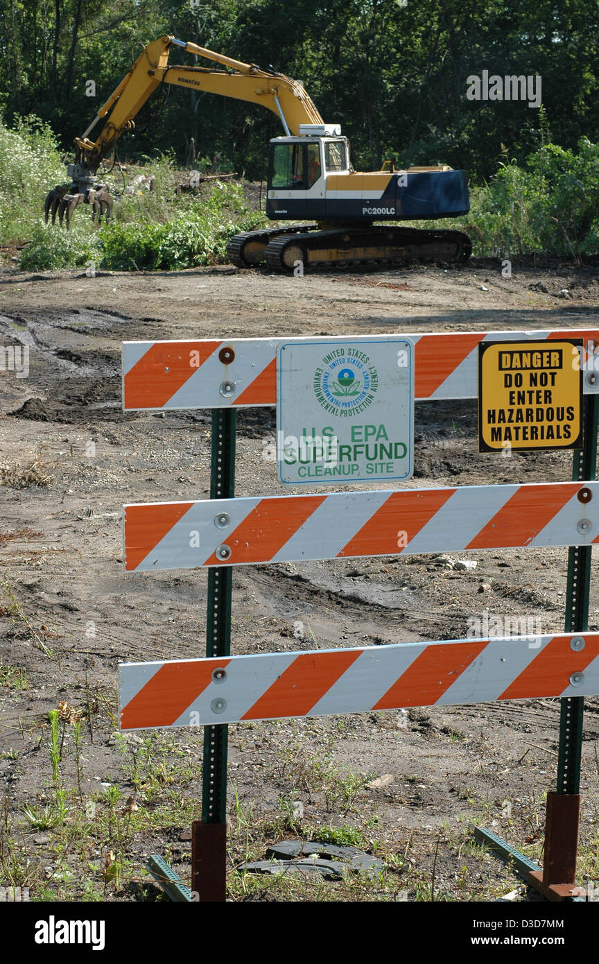
M479 449L580 448L582 338L479 347Z

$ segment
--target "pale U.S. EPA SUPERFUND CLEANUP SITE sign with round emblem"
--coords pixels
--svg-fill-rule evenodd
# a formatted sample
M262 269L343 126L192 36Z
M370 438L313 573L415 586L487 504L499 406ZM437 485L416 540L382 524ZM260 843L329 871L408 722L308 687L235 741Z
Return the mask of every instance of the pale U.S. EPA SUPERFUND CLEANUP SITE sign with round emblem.
M281 482L407 479L413 470L414 349L405 338L289 342L276 360Z

